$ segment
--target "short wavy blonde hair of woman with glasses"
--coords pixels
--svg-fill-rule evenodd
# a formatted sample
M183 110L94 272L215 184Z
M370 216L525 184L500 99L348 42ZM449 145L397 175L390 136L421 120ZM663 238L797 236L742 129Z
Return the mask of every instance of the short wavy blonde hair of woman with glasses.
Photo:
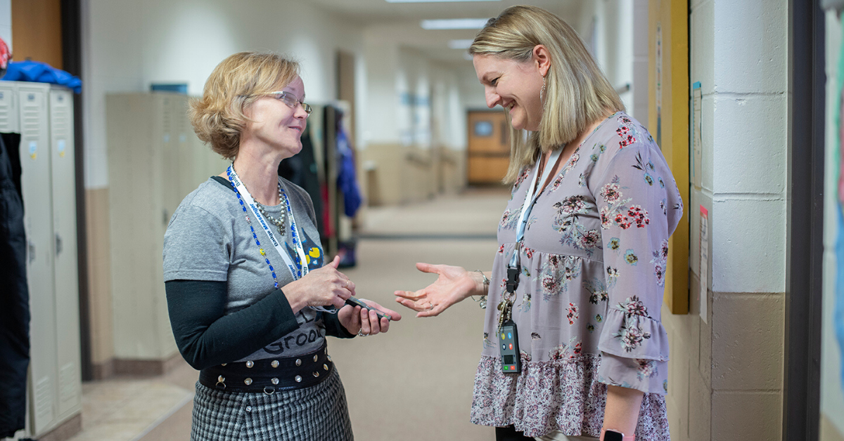
M208 77L203 96L191 99L188 114L193 131L211 149L234 160L241 147L241 132L251 121L247 106L283 89L299 75L299 63L273 52L238 52L229 56Z

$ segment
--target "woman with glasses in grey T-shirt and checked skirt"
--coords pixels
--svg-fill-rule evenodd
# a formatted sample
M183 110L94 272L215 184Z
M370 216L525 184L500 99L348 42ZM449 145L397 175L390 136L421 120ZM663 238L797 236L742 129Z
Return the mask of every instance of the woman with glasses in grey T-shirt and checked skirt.
M232 160L185 197L165 234L170 324L200 369L193 441L352 439L325 337L390 326L344 304L354 282L338 258L324 260L310 197L278 175L311 113L298 70L277 54L237 53L191 103L198 137Z

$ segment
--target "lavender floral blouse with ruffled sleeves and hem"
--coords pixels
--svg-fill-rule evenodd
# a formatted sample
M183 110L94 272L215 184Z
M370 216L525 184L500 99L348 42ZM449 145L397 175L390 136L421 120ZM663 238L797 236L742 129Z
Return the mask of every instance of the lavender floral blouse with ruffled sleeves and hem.
M516 227L536 167L522 172L498 229L472 422L527 436L598 437L607 385L645 392L637 439L668 440L668 336L660 322L668 236L683 214L651 135L610 116L540 193L522 246ZM496 343L512 253L522 272L512 309L522 373L505 374Z

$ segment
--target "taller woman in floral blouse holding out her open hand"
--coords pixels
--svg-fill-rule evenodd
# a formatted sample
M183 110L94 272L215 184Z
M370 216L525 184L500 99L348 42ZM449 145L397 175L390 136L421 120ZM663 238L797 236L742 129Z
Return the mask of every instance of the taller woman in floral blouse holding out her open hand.
M667 441L660 306L683 202L663 154L554 14L507 8L469 53L512 127L500 248L492 272L418 264L438 280L398 302L489 298L471 419L496 438Z

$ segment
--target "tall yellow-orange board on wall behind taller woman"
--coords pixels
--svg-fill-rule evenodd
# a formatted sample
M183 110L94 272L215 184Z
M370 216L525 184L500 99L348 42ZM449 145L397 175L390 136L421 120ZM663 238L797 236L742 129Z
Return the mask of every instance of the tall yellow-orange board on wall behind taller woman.
M683 218L668 239L665 304L689 313L689 3L648 2L648 129L683 198Z

